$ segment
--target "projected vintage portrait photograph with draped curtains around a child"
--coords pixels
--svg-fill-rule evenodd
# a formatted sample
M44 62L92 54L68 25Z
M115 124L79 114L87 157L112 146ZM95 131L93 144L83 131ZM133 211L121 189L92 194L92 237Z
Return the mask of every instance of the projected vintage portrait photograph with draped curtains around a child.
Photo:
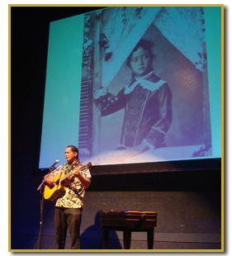
M92 164L211 156L203 7L84 16L78 149Z

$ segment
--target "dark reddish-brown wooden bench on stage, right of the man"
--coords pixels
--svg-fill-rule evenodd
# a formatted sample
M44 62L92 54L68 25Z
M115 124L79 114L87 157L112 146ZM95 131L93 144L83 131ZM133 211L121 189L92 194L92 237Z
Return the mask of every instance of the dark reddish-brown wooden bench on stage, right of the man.
M110 230L123 231L124 249L130 249L131 232L147 232L148 249L153 249L157 216L155 211L101 211L103 249L107 249Z

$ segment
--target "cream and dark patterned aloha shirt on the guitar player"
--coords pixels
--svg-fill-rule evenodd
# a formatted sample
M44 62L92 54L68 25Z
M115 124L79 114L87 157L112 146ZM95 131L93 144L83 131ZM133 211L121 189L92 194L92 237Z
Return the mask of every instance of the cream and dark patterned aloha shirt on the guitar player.
M73 168L77 167L79 162L75 164L62 164L58 168L55 168L51 173L52 175L58 175L59 173L64 172L69 173ZM85 164L80 164L79 167ZM83 175L84 178L88 180L91 179L91 174L89 172L89 168L83 168L79 170L79 172ZM78 178L74 178L72 182L66 184L64 187L64 193L59 196L57 201L55 202L55 206L57 207L65 207L65 208L83 208L83 197L85 194L85 188Z

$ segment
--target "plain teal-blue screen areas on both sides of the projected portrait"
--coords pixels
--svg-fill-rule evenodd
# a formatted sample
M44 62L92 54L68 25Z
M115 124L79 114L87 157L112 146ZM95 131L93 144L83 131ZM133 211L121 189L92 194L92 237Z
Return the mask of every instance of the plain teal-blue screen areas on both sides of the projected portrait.
M221 7L204 7L213 155L221 157ZM84 15L50 23L39 168L78 146Z

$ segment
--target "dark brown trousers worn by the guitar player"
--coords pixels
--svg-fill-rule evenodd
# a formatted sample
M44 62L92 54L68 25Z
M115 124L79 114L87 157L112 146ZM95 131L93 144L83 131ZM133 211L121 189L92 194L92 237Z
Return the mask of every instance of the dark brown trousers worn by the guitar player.
M71 249L80 249L82 209L55 207L55 249L64 249L67 229L71 237Z

